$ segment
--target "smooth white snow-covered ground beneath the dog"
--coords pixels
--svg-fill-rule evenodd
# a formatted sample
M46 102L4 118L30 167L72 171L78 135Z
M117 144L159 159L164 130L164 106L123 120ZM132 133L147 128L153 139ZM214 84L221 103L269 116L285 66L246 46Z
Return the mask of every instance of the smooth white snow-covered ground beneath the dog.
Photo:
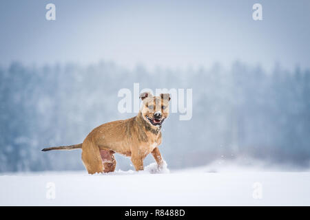
M310 206L310 172L215 162L185 170L0 175L1 206Z

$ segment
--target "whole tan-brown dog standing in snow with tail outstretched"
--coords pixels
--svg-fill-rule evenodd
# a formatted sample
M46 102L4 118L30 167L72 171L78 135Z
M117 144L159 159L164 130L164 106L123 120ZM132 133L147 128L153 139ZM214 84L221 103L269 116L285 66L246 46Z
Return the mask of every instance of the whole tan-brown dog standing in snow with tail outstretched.
M161 125L169 115L169 94L152 96L145 92L138 115L127 120L101 124L90 132L83 144L44 148L50 150L72 150L82 148L82 160L88 173L113 172L116 167L114 153L131 157L136 170L143 170L143 159L152 153L158 168L163 158L158 150L161 144Z

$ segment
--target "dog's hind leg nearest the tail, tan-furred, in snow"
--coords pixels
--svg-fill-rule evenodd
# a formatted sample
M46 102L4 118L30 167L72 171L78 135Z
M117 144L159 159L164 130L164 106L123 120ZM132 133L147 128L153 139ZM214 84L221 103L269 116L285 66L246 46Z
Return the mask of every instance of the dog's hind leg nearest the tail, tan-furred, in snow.
M93 142L85 140L82 146L82 160L88 173L103 173L103 163L99 151L99 146Z

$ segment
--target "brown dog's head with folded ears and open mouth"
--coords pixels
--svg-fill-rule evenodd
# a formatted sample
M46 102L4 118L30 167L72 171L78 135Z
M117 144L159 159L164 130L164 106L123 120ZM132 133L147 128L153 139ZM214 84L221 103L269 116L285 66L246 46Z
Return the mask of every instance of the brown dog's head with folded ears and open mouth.
M141 108L143 119L152 126L161 126L169 115L169 94L153 96L150 92L144 92L140 98L143 100Z

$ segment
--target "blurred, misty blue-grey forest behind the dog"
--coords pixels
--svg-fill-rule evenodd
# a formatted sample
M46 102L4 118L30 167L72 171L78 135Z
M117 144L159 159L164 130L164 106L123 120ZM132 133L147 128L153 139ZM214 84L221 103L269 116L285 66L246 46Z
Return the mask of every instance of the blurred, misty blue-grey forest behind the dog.
M230 69L134 70L114 63L0 67L0 171L83 169L81 150L41 152L78 144L119 113L119 89L192 88L192 120L172 113L163 124L161 153L169 168L215 159L256 157L309 167L310 72L296 67L234 63ZM145 164L152 157L148 157ZM117 156L118 168L130 159ZM132 168L133 169L133 168Z

